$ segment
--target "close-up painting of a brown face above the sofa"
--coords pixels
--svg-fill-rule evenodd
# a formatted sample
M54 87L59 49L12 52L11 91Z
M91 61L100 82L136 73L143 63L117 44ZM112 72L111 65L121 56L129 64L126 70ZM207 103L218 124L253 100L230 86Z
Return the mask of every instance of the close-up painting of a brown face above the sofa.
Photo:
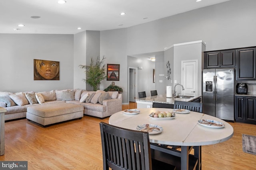
M34 80L60 80L60 62L34 59Z

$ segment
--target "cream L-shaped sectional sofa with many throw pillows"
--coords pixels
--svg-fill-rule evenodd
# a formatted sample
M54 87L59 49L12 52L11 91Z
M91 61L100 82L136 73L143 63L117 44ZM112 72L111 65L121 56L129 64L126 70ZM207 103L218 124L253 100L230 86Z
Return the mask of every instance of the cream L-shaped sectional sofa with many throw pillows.
M87 96L87 97L86 97ZM40 98L41 97L41 98ZM51 90L49 92L0 92L0 107L6 108L5 121L26 117L27 108L54 103L84 106L84 115L108 117L122 110L122 94L102 90Z

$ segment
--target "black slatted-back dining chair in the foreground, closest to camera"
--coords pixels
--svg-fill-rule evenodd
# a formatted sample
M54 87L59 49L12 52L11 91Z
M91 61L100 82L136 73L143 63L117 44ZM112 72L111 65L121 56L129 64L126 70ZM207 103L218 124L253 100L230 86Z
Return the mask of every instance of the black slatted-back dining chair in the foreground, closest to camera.
M165 170L175 166L151 158L148 132L100 122L103 170Z

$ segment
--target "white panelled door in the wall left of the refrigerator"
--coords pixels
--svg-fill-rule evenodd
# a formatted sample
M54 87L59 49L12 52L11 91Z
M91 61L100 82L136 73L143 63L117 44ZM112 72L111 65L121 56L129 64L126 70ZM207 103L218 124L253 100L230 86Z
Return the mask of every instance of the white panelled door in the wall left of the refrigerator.
M184 86L183 95L198 95L198 61L182 61L182 85Z

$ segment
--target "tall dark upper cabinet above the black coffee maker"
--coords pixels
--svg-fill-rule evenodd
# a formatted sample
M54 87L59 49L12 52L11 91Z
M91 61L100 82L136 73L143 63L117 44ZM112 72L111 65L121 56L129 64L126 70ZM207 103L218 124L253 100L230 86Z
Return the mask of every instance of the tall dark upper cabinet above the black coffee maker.
M237 80L256 80L256 48L237 50Z

